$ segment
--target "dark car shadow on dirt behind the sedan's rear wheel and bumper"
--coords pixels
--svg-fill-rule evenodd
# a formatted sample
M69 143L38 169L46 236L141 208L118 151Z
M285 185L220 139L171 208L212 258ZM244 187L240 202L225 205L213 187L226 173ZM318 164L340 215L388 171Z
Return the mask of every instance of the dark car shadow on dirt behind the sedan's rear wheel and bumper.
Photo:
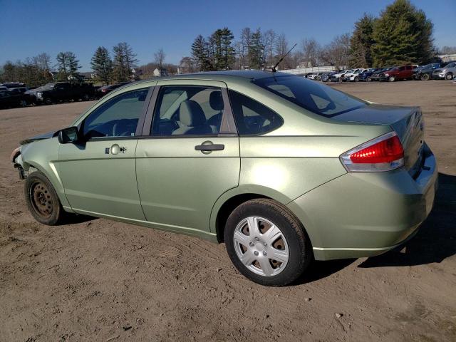
M421 224L418 234L403 246L390 252L370 257L358 267L415 266L440 263L456 254L456 176L439 173L439 186L435 196L432 212ZM331 261L314 261L291 286L306 284L323 279L346 266L356 259Z

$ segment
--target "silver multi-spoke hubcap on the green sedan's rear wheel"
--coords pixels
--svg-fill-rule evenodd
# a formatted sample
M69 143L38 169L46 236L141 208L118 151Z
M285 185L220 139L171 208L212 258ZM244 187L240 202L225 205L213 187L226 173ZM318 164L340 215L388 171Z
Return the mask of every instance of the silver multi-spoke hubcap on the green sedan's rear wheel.
M279 227L263 217L247 217L234 229L234 249L250 271L275 276L289 261L289 247Z

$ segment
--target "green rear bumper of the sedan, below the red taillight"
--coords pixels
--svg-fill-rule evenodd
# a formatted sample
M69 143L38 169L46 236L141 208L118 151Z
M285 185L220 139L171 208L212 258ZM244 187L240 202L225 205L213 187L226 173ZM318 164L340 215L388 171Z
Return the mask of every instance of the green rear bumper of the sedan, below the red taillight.
M417 231L434 203L437 164L428 147L418 177L405 168L351 172L290 202L317 260L371 257L398 247Z

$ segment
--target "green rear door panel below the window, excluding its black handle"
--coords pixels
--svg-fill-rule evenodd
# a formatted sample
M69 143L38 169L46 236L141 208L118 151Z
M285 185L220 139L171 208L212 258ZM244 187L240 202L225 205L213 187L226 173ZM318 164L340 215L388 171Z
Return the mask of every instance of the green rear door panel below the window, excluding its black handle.
M195 150L204 141L224 150ZM148 221L209 232L214 202L239 182L239 138L142 139L136 151L138 188Z

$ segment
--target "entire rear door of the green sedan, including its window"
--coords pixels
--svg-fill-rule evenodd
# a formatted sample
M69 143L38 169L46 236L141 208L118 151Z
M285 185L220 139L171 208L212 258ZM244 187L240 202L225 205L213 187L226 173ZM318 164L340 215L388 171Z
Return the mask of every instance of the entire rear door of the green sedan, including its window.
M239 138L226 85L159 81L152 99L147 138L136 149L145 217L159 229L209 232L217 198L239 183Z

